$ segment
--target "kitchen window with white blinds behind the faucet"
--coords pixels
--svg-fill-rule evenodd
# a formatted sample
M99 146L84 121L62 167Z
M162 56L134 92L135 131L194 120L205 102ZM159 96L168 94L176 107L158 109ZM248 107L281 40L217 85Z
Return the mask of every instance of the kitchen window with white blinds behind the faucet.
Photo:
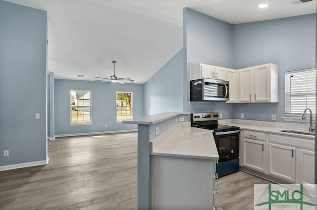
M301 119L306 108L316 114L316 69L285 72L285 118Z

